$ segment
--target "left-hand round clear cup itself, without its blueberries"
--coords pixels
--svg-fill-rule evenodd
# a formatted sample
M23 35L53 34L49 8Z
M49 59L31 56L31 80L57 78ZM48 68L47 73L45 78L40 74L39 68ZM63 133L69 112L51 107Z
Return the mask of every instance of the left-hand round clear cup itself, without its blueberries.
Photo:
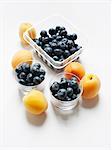
M24 63L24 62L22 62L22 63ZM20 63L18 66L20 66L22 63ZM26 62L25 62L25 63L26 63ZM27 61L27 63L30 64L30 65L33 65L33 64L35 64L35 63L39 63L39 64L41 65L41 68L46 72L45 67L44 67L40 62L37 62L36 60L29 60L29 61ZM18 67L18 66L17 66L17 67ZM17 67L16 67L16 68L17 68ZM14 77L15 77L15 79L16 79L16 81L17 81L18 88L19 88L20 92L21 92L23 95L27 94L27 93L30 92L32 89L37 89L37 90L42 91L42 90L44 89L44 87L45 87L45 84L46 84L46 74L45 74L45 79L44 79L40 84L38 84L38 85L33 85L33 86L27 86L27 85L23 85L23 84L19 83L19 79L18 79L18 77L17 77L17 73L15 72L15 70L14 70L13 74L14 74Z

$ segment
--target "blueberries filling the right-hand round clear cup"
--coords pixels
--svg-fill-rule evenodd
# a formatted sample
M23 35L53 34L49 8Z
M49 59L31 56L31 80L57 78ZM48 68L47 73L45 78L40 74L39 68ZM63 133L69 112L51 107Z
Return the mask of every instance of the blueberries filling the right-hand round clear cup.
M50 90L52 95L61 101L72 101L77 98L81 90L75 77L71 79L61 78L60 82L54 82Z

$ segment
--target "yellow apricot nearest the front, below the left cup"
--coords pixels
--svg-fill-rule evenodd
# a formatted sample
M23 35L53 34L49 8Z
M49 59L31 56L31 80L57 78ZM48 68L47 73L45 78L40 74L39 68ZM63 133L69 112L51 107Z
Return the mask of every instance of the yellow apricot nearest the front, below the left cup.
M43 93L34 89L23 97L23 103L26 110L34 115L39 115L48 108L48 103Z

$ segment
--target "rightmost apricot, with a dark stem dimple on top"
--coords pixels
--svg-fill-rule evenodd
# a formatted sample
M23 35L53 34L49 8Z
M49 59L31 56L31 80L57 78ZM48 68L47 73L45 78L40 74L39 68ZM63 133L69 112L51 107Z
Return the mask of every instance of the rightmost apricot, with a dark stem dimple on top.
M94 74L86 74L82 80L83 86L82 96L84 99L92 99L98 95L100 90L100 79Z

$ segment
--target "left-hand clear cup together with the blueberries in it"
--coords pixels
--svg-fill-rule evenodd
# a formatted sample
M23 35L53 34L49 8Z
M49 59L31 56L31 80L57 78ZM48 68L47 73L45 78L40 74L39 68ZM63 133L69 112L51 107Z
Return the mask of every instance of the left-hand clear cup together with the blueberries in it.
M43 90L44 88L46 71L36 60L19 64L14 70L14 75L23 94L32 89Z

